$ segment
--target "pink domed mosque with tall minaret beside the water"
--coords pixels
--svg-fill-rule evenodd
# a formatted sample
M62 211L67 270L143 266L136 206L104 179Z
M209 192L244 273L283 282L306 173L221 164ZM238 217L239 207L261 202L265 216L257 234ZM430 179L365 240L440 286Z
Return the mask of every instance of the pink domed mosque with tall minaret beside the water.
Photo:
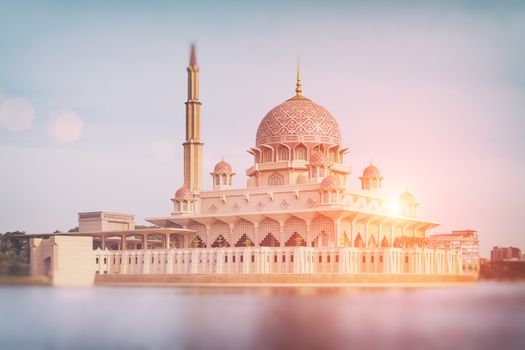
M80 266L97 276L463 273L461 251L426 244L439 224L417 216L414 195L382 195L375 165L363 170L360 188L347 186L339 125L303 95L299 70L295 94L259 124L246 188L232 188L236 173L223 159L210 173L213 189L203 191L193 46L187 72L184 183L171 198L173 212L146 218L154 227L140 229L130 214L79 213L78 233L32 239L33 274L67 280ZM57 246L75 253L59 255Z

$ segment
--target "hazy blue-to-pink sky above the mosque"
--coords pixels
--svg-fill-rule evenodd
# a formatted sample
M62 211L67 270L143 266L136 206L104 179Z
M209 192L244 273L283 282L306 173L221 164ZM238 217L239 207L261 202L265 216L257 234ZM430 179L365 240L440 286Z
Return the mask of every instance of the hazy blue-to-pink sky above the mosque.
M0 232L77 213L168 215L182 184L189 46L204 187L246 185L259 122L294 94L338 120L352 167L407 187L433 232L525 249L525 2L0 0Z

